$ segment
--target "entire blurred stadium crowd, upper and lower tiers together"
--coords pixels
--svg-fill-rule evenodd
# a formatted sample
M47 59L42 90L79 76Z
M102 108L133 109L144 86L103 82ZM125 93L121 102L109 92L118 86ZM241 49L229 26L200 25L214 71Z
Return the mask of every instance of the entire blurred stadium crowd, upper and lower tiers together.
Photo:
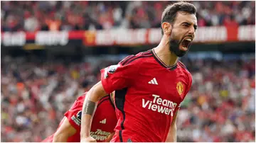
M191 3L199 27L255 25L255 1ZM167 4L1 1L1 31L159 28ZM100 69L119 62L93 59L1 55L1 142L41 142L55 132L75 98L100 81ZM255 142L255 55L181 61L193 86L178 116L178 142Z

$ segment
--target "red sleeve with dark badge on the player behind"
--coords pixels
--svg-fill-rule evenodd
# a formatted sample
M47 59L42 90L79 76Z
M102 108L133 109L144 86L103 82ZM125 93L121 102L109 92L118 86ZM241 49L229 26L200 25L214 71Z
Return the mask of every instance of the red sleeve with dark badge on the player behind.
M81 116L82 116L82 102L84 96L80 96L75 103L73 103L70 110L68 110L64 115L68 118L70 124L75 128L75 130L80 130Z

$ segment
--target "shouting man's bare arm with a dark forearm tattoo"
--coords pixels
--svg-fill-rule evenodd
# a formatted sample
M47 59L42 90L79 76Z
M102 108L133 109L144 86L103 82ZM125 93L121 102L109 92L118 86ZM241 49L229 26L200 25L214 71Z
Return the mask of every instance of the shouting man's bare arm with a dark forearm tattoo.
M100 98L104 96L107 96L107 93L105 92L101 81L95 84L95 86L90 88L90 91L88 91L82 105L80 132L81 142L96 142L95 139L90 137L90 129L92 125L92 118L97 108L97 101L100 101Z

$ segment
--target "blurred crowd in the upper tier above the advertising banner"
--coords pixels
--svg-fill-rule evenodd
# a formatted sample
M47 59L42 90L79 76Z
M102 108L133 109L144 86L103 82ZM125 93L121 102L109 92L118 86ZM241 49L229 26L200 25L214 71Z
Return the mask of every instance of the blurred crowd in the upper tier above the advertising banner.
M188 1L198 26L255 25L255 1ZM170 1L1 1L1 31L160 28Z

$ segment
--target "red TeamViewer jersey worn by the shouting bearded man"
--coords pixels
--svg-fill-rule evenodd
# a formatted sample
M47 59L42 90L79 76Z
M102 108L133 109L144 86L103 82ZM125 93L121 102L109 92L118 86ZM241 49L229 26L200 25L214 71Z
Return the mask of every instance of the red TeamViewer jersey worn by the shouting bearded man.
M115 91L117 126L111 142L165 142L173 116L192 84L186 67L167 67L154 50L101 70L107 93Z

